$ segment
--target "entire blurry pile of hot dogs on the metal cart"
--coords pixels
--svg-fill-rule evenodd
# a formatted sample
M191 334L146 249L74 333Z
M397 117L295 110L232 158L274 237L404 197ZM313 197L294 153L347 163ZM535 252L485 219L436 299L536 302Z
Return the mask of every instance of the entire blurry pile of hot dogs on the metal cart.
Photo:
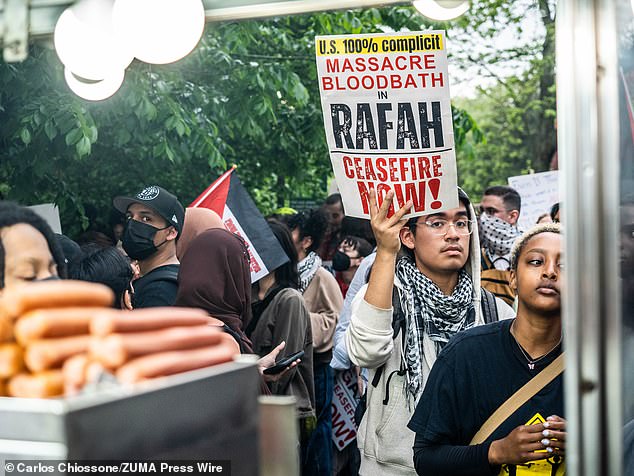
M72 395L103 372L121 383L228 362L237 342L204 311L118 311L99 284L25 285L0 303L0 392L16 397ZM15 341L6 342L15 336ZM3 393L0 393L3 395Z

